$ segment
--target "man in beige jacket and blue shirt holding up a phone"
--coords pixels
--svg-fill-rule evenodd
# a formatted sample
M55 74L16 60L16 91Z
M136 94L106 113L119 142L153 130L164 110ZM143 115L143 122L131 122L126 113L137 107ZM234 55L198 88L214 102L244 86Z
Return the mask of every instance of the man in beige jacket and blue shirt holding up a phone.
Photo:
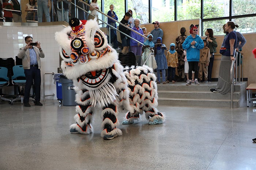
M30 88L33 84L35 85L35 106L43 106L40 103L40 91L41 91L41 60L45 54L42 51L40 43L36 41L33 43L33 37L25 37L26 46L20 48L18 58L22 59L22 65L26 76L26 84L24 90L24 106L30 107L29 95Z

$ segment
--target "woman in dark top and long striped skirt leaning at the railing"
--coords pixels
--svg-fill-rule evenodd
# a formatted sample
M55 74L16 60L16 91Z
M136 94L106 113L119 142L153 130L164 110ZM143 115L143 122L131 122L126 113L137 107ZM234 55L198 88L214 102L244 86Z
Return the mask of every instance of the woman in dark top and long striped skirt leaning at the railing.
M220 49L222 56L219 66L218 83L215 88L210 89L212 92L220 92L222 94L231 92L230 68L232 61L235 61L234 54L237 41L237 35L234 31L235 27L238 27L238 25L235 25L232 21L227 22L225 25L225 31L229 32L229 34L226 37L223 49Z

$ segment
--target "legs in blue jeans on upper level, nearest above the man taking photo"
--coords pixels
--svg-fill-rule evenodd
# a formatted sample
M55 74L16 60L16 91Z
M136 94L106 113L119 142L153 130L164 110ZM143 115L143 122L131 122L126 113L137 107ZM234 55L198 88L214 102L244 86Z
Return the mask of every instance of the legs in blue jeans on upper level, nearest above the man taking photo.
M42 22L43 12L45 14L46 22L50 22L50 0L37 0L38 23Z

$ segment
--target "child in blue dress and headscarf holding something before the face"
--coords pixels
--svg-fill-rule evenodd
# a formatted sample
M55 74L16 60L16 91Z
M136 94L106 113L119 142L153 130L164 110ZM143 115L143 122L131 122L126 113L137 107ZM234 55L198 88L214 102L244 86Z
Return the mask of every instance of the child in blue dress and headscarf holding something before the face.
M155 53L155 61L157 62L157 84L160 83L160 71L162 71L162 76L163 76L163 84L166 84L167 82L165 81L165 70L168 69L167 66L167 60L165 57L165 50L166 46L165 44L162 44L162 38L158 37L157 38L157 43L155 44L154 47L154 53Z

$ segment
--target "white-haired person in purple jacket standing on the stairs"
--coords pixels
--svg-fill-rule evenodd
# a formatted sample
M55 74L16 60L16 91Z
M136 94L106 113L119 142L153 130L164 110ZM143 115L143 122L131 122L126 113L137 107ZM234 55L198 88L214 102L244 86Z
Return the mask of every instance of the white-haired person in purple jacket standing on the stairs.
M139 19L135 19L134 20L134 27L132 28L134 31L139 32L141 35L138 35L137 33L131 31L130 32L130 36L132 38L134 38L135 40L138 40L140 43L144 43L144 37L143 35L143 31L142 29L139 27L140 25L140 20ZM133 39L130 40L130 46L131 46L131 51L135 54L135 55L141 55L142 52L142 44L138 43L137 41L135 41Z

